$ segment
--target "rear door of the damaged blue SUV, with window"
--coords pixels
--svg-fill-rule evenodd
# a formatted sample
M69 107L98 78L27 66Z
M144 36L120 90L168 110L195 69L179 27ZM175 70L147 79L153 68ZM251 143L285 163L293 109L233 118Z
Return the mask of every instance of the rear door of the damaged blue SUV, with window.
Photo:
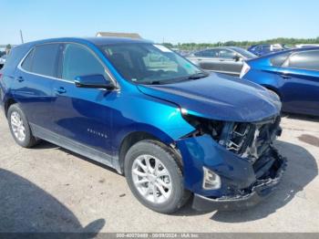
M29 51L15 73L13 92L27 119L52 130L52 86L57 78L59 44L43 44Z

